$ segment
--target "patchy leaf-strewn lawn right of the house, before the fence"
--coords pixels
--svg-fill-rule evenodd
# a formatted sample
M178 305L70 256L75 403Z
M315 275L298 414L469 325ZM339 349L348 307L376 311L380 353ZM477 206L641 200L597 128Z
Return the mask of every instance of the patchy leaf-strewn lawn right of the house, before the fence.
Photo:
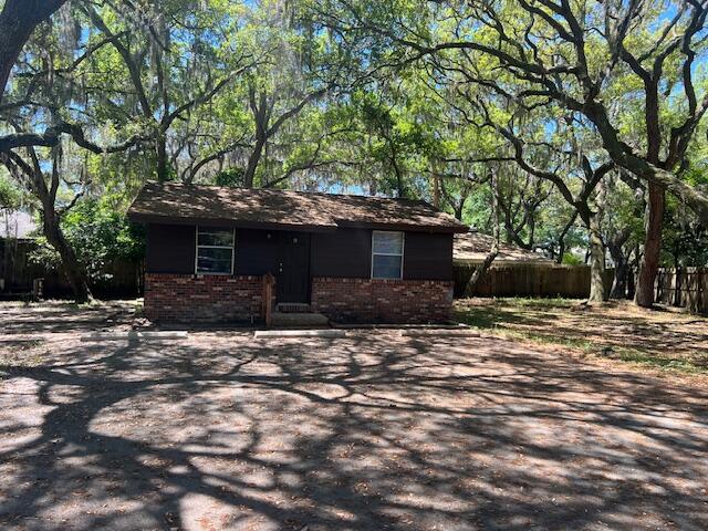
M644 310L627 301L582 305L568 299L467 299L456 317L482 330L585 355L686 374L708 374L708 319Z

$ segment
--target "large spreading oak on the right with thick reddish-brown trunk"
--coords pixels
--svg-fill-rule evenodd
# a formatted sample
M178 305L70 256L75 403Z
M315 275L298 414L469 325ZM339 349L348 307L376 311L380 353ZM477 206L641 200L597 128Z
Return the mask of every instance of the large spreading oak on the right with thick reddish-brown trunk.
M681 177L687 148L708 110L695 67L705 51L706 2L426 2L395 13L378 2L335 3L327 23L375 38L378 48L388 45L389 63L431 56L440 70L457 72L461 82L486 86L518 108L555 105L580 117L617 167L649 185L637 303L652 303L664 190L708 220L708 196ZM617 103L637 97L645 108L641 143L626 137L612 113ZM676 111L670 119L662 112L668 105Z

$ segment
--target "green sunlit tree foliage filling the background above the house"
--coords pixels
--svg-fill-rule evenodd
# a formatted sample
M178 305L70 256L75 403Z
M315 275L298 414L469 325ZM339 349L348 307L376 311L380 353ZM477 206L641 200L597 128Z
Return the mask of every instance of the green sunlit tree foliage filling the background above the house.
M654 53L669 23L666 13L676 4L642 4L626 37L631 51ZM614 20L601 17L608 4L582 0L569 6L585 38L590 76L606 74L597 102L608 110L620 138L645 153L643 82L622 58L610 62L607 35L597 31ZM566 227L584 204L600 212L605 241L629 232L624 253L636 258L644 238L642 190L613 173L579 197L587 180L581 155L596 167L607 152L582 112L544 93L558 86L580 100L585 91L574 70L565 69L576 58L568 39L556 34L563 17L551 17L543 7L531 11L507 0L482 7L408 0L71 2L33 34L15 65L3 101L8 105L0 111L2 133L19 127L42 134L64 119L101 146L140 138L129 148L97 154L63 137L55 206L64 207L80 189L97 197L81 201L62 222L91 274L100 274L107 257L132 252L131 241L139 240L115 212L125 210L147 179L251 185L249 162L256 187L437 201L488 233L499 219L503 240L553 256L561 248L587 246L582 220ZM671 34L679 34L683 24ZM476 46L420 53L451 40ZM706 92L707 45L704 41L696 50L698 101ZM558 73L524 77L485 50ZM664 136L687 113L680 63L676 49L662 71ZM43 73L49 67L59 70ZM539 80L545 80L541 86ZM27 94L32 104L15 107ZM181 111L168 119L175 110ZM521 138L529 164L558 175L558 181L522 169L509 138L492 123ZM663 149L667 146L664 138ZM705 124L688 154L680 178L705 189ZM53 152L38 147L34 155L49 183ZM15 190L31 189L29 180L3 179L0 206L25 204ZM494 198L501 204L498 217ZM706 263L705 235L705 227L669 199L664 263Z

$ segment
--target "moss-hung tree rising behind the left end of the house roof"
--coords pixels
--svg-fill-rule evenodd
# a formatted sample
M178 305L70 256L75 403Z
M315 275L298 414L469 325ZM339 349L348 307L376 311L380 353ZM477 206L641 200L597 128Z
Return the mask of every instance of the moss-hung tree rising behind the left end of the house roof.
M119 55L123 79L127 81L124 91L135 94L134 100L126 102L133 107L126 112L142 118L140 136L153 145L154 175L160 181L176 176L177 159L187 145L188 157L196 158L194 138L191 143L180 139L176 123L190 122L199 106L209 104L257 62L248 53L237 51L225 56L220 51L233 51L232 38L227 35L236 27L236 20L229 10L192 10L188 1L175 2L169 8L150 6L136 10L129 1L117 11L98 10L90 4L81 8ZM185 28L190 31L189 38L175 37ZM214 42L214 33L225 42ZM204 133L204 124L200 125ZM189 135L189 127L183 127L181 133ZM176 152L173 156L170 144ZM192 165L198 167L190 178L214 155L207 157L205 163Z

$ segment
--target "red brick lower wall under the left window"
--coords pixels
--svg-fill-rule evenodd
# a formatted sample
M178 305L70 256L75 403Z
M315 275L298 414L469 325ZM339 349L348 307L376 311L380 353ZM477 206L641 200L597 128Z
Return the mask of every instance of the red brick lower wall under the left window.
M218 323L262 319L261 277L145 274L150 321Z

